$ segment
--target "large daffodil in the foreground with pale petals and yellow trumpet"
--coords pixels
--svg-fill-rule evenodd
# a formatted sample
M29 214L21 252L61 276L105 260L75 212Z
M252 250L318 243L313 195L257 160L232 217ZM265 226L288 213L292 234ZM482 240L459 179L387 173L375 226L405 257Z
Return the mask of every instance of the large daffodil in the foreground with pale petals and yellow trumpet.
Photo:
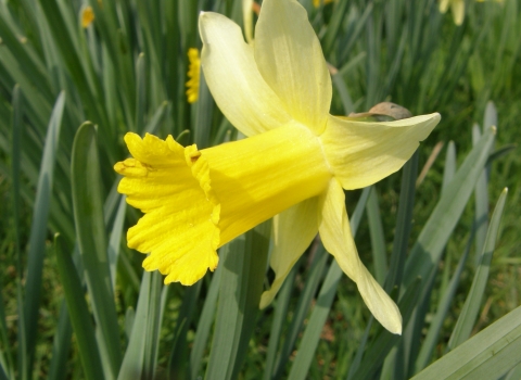
M402 332L395 303L358 257L344 190L398 170L440 121L437 113L384 123L329 114L331 78L305 10L264 0L254 46L216 13L200 15L202 67L226 117L249 138L199 151L171 137L127 134L134 159L115 165L118 191L144 216L128 245L150 253L147 270L191 284L218 263L216 250L274 218L275 297L317 232L374 317Z

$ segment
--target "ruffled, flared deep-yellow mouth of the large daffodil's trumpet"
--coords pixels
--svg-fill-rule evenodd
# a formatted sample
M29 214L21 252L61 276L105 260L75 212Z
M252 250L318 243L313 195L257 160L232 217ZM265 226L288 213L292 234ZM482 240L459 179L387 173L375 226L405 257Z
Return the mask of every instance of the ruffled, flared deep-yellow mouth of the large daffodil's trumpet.
M117 190L145 214L128 230L128 246L150 253L143 267L168 275L165 283L192 284L218 263L220 205L207 163L194 145L185 149L171 137L127 134L125 141L134 159L114 166L125 176Z

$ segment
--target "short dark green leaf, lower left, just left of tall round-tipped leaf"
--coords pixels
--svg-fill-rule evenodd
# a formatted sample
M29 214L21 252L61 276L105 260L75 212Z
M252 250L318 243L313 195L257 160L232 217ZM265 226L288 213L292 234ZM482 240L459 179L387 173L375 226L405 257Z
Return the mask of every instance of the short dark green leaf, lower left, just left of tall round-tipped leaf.
M62 244L62 239L56 235L54 249L56 250L58 271L65 293L71 324L76 334L84 376L86 379L103 379L100 351L96 342L94 327L85 300L81 281L71 255Z

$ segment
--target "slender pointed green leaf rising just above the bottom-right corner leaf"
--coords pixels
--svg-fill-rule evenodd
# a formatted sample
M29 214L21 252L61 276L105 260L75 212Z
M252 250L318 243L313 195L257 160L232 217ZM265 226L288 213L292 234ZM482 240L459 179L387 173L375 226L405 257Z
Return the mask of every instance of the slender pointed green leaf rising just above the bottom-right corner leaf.
M496 208L494 210L494 214L492 215L491 226L486 232L480 265L475 271L472 287L467 295L461 314L459 315L453 334L450 335L450 340L448 341L448 350L453 350L465 342L470 337L472 328L474 327L475 318L478 318L478 313L481 307L481 300L485 291L486 281L488 279L492 255L496 248L496 239L499 231L499 223L501 220L507 193L508 189L503 190L501 195L499 195L499 200L497 201Z

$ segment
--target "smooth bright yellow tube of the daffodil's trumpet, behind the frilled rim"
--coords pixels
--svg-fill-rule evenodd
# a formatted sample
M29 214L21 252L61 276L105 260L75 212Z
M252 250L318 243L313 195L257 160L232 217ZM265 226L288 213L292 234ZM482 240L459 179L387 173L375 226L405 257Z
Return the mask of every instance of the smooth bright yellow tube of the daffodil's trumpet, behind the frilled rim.
M304 126L290 124L201 151L221 204L221 243L308 198L331 178L322 147Z

